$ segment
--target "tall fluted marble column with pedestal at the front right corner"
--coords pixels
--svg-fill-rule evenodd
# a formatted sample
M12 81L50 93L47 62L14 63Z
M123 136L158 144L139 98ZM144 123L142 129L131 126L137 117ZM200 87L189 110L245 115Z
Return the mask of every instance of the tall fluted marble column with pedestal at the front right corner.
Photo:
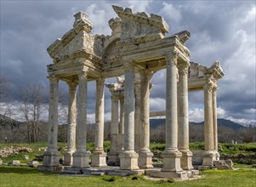
M177 59L177 54L166 54L166 149L162 152L162 172L182 171L182 154L178 150Z

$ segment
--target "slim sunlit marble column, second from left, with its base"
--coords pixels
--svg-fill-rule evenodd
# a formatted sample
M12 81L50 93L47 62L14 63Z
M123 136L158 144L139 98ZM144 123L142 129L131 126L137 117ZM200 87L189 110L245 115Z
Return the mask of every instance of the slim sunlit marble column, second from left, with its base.
M71 166L72 154L76 150L77 126L77 82L67 82L69 86L68 124L67 124L67 150L64 155L64 165Z

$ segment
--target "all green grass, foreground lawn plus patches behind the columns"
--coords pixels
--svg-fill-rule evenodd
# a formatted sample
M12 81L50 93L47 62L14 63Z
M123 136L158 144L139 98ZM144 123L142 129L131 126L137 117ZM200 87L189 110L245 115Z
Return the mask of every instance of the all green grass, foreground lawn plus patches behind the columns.
M252 154L256 152L256 143L250 144L220 144L222 150L219 152L226 154ZM21 163L27 163L35 159L35 155L43 155L41 148L47 144L0 144L0 150L4 147L29 147L33 150L31 153L20 152L9 157L0 157L3 162L10 160L20 160ZM58 143L60 152L65 152L65 143ZM230 150L230 146L232 149ZM110 149L110 142L104 143L105 150ZM191 150L202 150L203 143L191 143ZM39 149L40 148L40 149ZM165 144L151 144L151 150L162 151ZM39 150L38 150L39 149ZM87 144L87 150L94 150L94 143ZM25 155L30 157L25 160ZM2 186L252 186L256 187L256 170L255 165L246 165L235 163L234 167L238 170L207 170L200 174L205 176L200 179L174 182L168 179L149 180L145 177L130 176L128 178L113 177L113 176L91 176L91 177L71 177L63 176L60 173L40 172L37 168L31 167L13 167L0 166L0 187Z

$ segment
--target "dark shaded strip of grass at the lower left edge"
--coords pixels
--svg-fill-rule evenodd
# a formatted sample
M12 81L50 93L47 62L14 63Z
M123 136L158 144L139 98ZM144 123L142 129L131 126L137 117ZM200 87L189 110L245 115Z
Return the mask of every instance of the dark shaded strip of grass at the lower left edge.
M57 172L45 172L39 171L37 167L12 167L12 166L0 166L1 173L16 173L16 174L35 174L42 173L44 175L56 175Z

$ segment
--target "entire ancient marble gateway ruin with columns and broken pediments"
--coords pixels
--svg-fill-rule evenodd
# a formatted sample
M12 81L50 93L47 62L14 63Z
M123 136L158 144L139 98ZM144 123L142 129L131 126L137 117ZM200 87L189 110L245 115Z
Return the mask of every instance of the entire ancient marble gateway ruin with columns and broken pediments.
M43 167L59 166L60 80L67 82L70 91L68 147L64 164L73 168L106 167L107 155L103 150L104 83L105 78L124 75L124 79L119 78L116 84L107 85L112 94L108 161L120 161L120 170L123 171L152 168L150 81L154 72L162 69L166 69L166 149L162 152L162 173L193 169L188 130L188 92L193 90L204 90L205 151L202 165L213 165L213 161L219 160L216 90L218 79L224 76L219 62L214 62L209 68L191 62L190 51L185 47L190 32L180 31L165 37L168 24L161 16L145 12L134 14L131 8L113 8L118 17L109 20L111 36L91 35L93 24L87 14L79 12L74 15L73 28L48 47L53 64L48 65L48 149L44 153ZM96 137L91 165L85 148L89 81L96 81L97 87ZM121 109L119 126L118 100ZM159 112L151 115L159 115Z

